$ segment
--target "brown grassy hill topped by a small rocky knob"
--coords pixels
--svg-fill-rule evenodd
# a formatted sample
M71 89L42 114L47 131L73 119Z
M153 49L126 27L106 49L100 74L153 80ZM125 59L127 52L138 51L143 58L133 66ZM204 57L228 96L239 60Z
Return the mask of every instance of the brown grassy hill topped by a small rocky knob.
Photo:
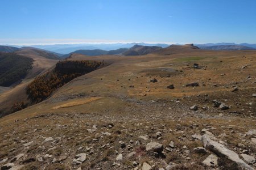
M176 53L196 52L197 50L200 50L200 49L193 44L170 45L167 48L156 50L153 53L161 54L161 55L170 55L170 54L176 54Z

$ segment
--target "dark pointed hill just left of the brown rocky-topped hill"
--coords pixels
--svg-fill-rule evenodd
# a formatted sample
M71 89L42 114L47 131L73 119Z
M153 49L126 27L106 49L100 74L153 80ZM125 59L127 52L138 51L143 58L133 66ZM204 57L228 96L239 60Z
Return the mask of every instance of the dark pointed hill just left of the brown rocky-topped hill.
M132 48L126 50L122 53L123 56L140 56L146 55L156 50L162 49L160 46L143 46L143 45L134 45Z

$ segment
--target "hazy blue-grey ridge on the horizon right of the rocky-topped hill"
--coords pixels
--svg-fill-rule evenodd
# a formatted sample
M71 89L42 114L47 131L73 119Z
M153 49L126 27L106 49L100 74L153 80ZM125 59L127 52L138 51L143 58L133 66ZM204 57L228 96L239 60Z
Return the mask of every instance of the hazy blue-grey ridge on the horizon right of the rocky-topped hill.
M199 46L200 49L208 50L256 50L255 48L243 45L214 45L214 46Z

